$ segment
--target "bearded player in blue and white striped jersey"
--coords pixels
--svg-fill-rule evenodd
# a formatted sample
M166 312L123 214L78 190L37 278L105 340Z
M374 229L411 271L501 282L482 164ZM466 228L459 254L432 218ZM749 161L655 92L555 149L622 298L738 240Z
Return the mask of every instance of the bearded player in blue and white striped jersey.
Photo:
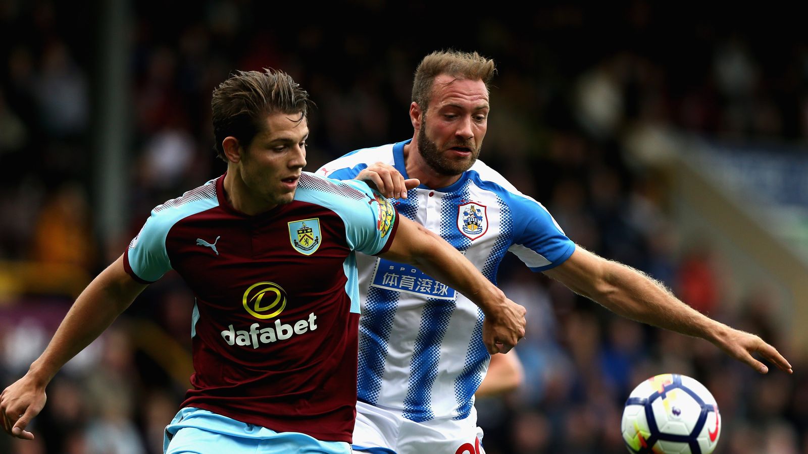
M373 182L496 282L507 251L613 312L705 338L751 367L790 365L774 347L684 305L662 284L576 246L553 216L478 160L494 62L436 52L415 73L411 140L359 149L318 174ZM415 179L419 186L413 187ZM412 187L410 189L410 187ZM417 267L359 254L359 403L353 446L376 454L484 452L473 408L490 356L483 314ZM529 380L529 377L527 378Z

